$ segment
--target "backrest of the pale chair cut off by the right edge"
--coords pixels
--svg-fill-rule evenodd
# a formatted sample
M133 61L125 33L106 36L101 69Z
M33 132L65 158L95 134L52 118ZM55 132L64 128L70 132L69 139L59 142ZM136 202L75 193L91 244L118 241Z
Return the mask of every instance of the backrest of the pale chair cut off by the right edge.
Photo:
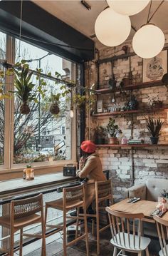
M154 216L154 220L157 223L157 232L159 236L159 243L162 250L162 255L168 256L168 221L162 220L161 217Z

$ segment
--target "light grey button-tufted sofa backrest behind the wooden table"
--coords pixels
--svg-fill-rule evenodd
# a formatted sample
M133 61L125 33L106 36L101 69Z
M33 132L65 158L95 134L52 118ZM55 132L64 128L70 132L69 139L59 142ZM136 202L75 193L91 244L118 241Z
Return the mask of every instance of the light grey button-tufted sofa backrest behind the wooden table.
M168 180L150 178L146 182L147 185L147 194L146 200L157 201L157 198L161 196L163 190L168 189Z

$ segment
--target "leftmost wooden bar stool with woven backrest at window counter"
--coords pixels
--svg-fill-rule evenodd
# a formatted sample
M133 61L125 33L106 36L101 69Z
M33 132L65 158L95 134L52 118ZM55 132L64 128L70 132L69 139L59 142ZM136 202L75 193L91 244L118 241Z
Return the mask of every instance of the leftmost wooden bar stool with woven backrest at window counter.
M40 214L38 214L40 213ZM41 223L42 235L23 233L23 227ZM11 201L10 215L0 217L0 225L10 229L10 248L7 255L13 256L16 250L22 256L23 236L42 238L41 255L46 255L46 232L43 221L43 195L37 195L33 198ZM20 230L20 246L14 249L14 233Z

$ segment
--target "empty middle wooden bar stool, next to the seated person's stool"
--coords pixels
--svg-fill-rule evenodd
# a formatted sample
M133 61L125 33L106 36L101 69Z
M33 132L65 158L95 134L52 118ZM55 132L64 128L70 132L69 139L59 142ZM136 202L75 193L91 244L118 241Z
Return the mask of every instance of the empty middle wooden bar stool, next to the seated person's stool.
M79 208L83 208L83 217L79 216ZM84 185L78 185L71 188L63 188L63 198L54 200L51 202L46 203L46 213L45 213L45 224L47 222L47 213L48 208L54 208L57 210L63 211L63 225L46 225L46 227L55 227L57 228L56 231L52 232L60 232L63 230L63 255L66 256L67 252L66 249L68 246L73 245L75 242L78 242L78 240L81 240L85 238L86 243L86 255L89 255L88 250L88 227L87 227L87 217L86 217L86 208L85 208L85 193L84 193ZM77 216L67 216L66 214L68 211L73 210L74 208L77 208ZM78 229L76 229L76 235L75 239L71 242L67 242L66 240L66 220L67 219L75 219L77 223L78 228L78 221L81 219L84 219L84 225L85 225L85 233L83 235L80 235L78 237Z

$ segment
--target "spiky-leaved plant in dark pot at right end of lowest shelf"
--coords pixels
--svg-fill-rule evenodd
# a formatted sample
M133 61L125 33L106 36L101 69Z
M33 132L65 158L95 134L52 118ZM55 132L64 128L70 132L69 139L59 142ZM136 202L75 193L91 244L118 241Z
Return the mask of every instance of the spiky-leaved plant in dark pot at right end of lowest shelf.
M160 130L164 122L160 120L160 118L153 119L151 117L146 118L147 122L147 130L151 135L150 139L152 144L157 144L159 140Z

